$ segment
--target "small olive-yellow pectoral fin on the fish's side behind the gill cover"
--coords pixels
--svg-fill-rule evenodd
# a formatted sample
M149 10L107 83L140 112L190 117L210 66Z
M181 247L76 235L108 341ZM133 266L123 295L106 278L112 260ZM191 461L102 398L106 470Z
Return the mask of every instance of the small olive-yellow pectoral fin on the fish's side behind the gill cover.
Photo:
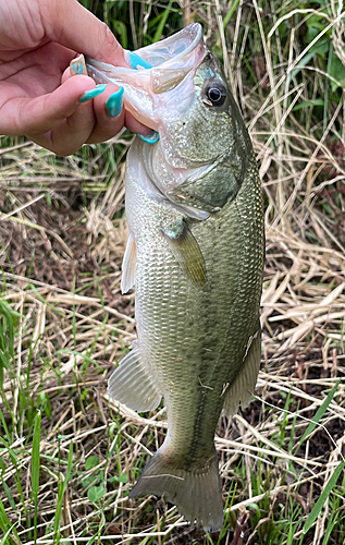
M162 227L162 233L182 270L196 286L206 282L204 255L187 223L181 219L174 226Z

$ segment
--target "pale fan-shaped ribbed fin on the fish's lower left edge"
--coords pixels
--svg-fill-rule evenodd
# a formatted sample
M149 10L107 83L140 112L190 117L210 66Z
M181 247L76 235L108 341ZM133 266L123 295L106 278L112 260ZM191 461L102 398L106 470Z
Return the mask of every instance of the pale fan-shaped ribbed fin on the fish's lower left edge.
M141 359L137 341L133 343L133 350L121 360L119 367L111 375L108 393L137 412L152 411L159 405L161 393Z

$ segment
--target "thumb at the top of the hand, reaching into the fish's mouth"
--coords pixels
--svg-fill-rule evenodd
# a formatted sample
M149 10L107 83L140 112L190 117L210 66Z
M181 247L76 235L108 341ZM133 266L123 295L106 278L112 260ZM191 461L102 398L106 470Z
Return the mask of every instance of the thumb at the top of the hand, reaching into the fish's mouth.
M127 66L124 50L110 28L77 0L40 0L46 36L78 53Z

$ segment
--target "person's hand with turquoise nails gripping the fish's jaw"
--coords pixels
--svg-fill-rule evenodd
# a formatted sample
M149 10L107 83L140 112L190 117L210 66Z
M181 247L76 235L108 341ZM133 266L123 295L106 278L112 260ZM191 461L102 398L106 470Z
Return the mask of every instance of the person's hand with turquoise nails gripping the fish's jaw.
M150 133L124 109L116 117L108 113L106 102L116 85L79 101L96 87L87 75L70 76L67 66L79 52L127 65L108 26L76 0L1 0L0 134L26 135L70 155L85 143L111 138L124 124Z

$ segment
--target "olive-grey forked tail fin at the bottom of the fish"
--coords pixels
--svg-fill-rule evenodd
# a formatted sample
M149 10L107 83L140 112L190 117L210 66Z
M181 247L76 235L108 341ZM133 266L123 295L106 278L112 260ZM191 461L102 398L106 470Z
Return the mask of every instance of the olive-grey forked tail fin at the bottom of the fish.
M204 468L187 471L178 468L178 463L164 453L163 445L144 469L130 498L141 494L163 496L177 507L187 521L196 520L208 532L223 528L223 499L215 450Z

